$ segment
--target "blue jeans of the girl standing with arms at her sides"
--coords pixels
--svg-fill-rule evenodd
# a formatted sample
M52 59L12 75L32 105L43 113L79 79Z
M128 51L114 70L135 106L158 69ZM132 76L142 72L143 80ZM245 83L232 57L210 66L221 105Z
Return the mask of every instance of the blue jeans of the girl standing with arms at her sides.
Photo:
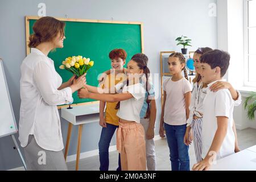
M164 123L172 171L189 171L188 146L184 144L186 128L187 125L174 126Z

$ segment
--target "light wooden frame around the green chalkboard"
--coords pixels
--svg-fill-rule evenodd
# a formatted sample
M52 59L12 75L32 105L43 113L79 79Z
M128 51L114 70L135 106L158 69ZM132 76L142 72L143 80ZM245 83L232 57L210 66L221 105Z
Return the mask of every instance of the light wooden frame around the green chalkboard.
M26 53L30 54L30 48L28 47L28 43L30 42L30 20L37 20L41 18L40 16L25 16L26 23ZM56 17L54 17L56 18ZM90 23L115 23L115 24L139 24L141 26L141 52L144 53L144 36L143 36L143 23L142 22L127 22L127 21L116 21L116 20L97 20L97 19L77 19L77 18L56 18L60 21L65 22L90 22ZM79 105L88 105L88 104L96 104L100 101L93 102L83 102L79 104L72 104L72 106ZM68 107L68 105L58 106L58 109Z

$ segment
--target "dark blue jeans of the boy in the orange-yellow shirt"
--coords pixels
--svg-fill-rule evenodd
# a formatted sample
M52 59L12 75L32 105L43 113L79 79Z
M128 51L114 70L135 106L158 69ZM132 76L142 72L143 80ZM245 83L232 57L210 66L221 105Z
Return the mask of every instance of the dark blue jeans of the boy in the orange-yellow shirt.
M100 142L98 142L98 150L100 155L100 171L109 170L109 145L118 126L106 123L106 127L102 127ZM118 156L118 168L121 171L120 154Z

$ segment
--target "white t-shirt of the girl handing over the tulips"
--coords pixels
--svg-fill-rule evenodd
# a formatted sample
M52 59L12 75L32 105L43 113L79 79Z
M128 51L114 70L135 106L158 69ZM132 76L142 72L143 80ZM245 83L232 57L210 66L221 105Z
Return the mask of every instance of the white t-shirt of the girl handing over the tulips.
M120 88L120 84L117 84L115 87L118 90ZM117 116L127 121L135 121L139 123L141 120L139 114L141 113L146 90L143 88L142 84L125 85L123 86L122 93L127 92L132 94L133 98L120 102L120 108L117 111Z

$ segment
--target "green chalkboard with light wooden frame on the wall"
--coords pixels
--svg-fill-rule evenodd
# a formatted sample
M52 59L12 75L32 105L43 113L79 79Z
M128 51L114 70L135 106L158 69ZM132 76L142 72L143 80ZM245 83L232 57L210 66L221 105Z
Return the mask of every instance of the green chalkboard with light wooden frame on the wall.
M26 16L27 34L32 34L32 26L38 18ZM60 19L60 18L59 18ZM62 61L69 56L89 57L94 65L86 75L89 85L98 86L97 77L110 69L109 52L115 48L123 48L127 52L127 61L135 53L143 52L142 23L108 22L95 20L60 19L66 23L64 48L58 48L49 53L55 63L55 69L67 81L72 73L60 69ZM27 41L28 37L27 35ZM29 51L29 49L27 49ZM27 51L27 53L28 53ZM73 93L73 104L91 102L94 100L80 99Z

